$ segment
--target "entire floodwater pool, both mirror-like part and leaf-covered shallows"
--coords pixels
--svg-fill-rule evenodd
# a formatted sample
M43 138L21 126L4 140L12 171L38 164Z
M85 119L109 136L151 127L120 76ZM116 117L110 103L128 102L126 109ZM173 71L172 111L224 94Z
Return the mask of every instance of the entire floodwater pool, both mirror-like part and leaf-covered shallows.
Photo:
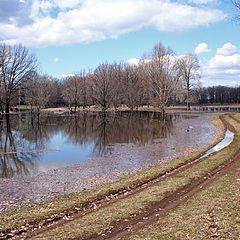
M216 138L207 114L29 115L0 122L0 211L164 164Z

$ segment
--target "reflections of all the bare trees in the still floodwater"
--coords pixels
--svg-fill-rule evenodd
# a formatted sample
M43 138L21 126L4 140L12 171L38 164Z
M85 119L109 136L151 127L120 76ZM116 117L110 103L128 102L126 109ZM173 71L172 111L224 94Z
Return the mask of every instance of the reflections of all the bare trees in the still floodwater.
M59 132L73 145L87 148L93 144L89 156L110 153L115 143L152 144L155 139L172 134L174 123L181 118L167 115L160 119L160 116L154 112L83 112L75 116L43 116L41 124L31 121L27 114L6 117L0 122L0 177L22 177L38 172L36 162L41 160L42 153L27 151L47 149L51 138Z

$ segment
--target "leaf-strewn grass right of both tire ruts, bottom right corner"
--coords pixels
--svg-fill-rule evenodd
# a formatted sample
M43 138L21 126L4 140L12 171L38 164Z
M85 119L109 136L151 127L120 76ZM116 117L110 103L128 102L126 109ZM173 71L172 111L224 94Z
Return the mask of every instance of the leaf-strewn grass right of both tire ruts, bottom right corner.
M240 120L240 115L235 115ZM230 121L237 130L240 124ZM240 160L240 159L239 159ZM240 239L240 161L231 172L130 239Z

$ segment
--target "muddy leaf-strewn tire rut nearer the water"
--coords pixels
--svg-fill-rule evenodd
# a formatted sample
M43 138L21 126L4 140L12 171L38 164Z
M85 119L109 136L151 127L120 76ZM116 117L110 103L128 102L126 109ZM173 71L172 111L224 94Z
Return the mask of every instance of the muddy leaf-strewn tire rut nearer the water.
M222 116L220 116L220 119L224 124L225 131L226 131L227 128L231 128L231 130L233 130L231 125L228 124L227 121L225 121L222 118ZM213 153L213 154L216 154L216 153ZM211 155L213 155L213 154L211 154ZM182 164L178 165L177 167L175 167L175 168L173 168L173 169L171 169L167 172L164 172L163 174L160 174L159 176L157 176L155 178L152 178L149 181L147 181L145 183L142 183L138 186L135 186L133 188L122 189L119 192L113 192L110 195L106 195L102 199L99 199L95 202L91 202L88 205L84 206L83 209L63 213L62 217L61 216L56 216L53 219L44 220L44 222L41 221L41 222L34 223L27 229L24 229L24 230L21 229L19 231L16 231L14 234L6 234L3 238L0 237L0 239L10 239L10 238L13 238L13 239L29 239L33 236L39 235L39 234L44 233L46 231L49 231L49 230L55 229L57 227L63 226L64 224L66 224L70 221L74 221L74 220L77 220L77 219L87 215L87 214L94 213L94 212L98 211L100 208L111 206L112 204L116 203L117 201L128 198L128 197L133 196L135 194L138 194L138 193L144 191L146 188L152 187L152 186L158 184L161 181L164 181L165 179L167 179L171 176L177 175L178 173L192 167L193 165L195 165L195 164L203 161L207 157L209 157L209 156L207 156L207 157L204 157L204 158L200 158L202 155L203 154L198 155L195 158L192 158L192 159L188 160L187 162L182 163ZM181 189L181 190L177 191L175 194L177 194L177 195L179 195L179 197L181 197L182 196L181 194L184 193L184 191L185 191L184 189ZM161 204L164 205L169 201L171 202L172 200L170 198L169 199L167 198L167 199L163 199L162 201L161 201ZM166 204L166 205L169 205L169 204ZM156 210L154 210L154 212L156 213ZM157 213L157 214L161 215L162 213L160 212L160 213ZM151 216L149 216L149 217L148 216L143 216L143 218L151 218ZM144 221L144 223L146 223L146 222L148 222L148 221ZM23 233L24 233L24 235L22 235ZM100 238L100 236L97 235L97 236L92 236L91 239L105 239L105 238ZM109 238L109 239L111 239L111 238Z

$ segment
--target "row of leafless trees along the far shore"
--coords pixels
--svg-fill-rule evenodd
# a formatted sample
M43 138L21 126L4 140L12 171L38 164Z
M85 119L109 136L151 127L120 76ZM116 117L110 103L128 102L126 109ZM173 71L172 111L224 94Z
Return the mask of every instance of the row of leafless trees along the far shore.
M102 63L62 80L38 73L38 63L20 45L0 45L0 110L26 104L37 114L47 106L97 105L102 111L126 105L134 110L153 105L162 114L170 104L239 103L239 88L199 86L199 61L194 54L177 56L161 43L138 64Z

